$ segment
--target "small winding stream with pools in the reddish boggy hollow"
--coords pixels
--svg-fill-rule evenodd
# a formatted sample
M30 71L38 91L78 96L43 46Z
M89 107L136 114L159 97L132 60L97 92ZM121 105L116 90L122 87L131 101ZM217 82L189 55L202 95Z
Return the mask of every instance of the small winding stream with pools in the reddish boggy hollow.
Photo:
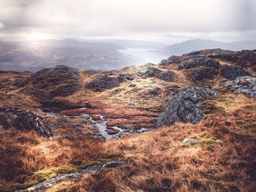
M81 109L85 109L85 108L81 108ZM42 111L40 108L37 108L37 110ZM56 115L61 115L59 114L59 112L43 112L45 114L46 117L56 117ZM140 129L124 129L124 128L120 128L118 126L113 126L113 127L108 127L106 126L106 123L108 122L108 120L106 120L104 118L104 116L99 115L100 120L93 120L91 118L91 115L83 113L81 115L74 115L74 116L67 116L67 115L61 115L62 117L75 117L75 118L87 118L89 119L89 122L91 124L94 124L98 130L99 130L99 134L102 135L102 137L104 137L106 140L109 139L114 139L114 138L119 138L122 136L129 136L129 134L132 133L142 133L143 131L151 131L152 128L140 128ZM115 129L118 130L117 134L108 134L108 132L111 129Z

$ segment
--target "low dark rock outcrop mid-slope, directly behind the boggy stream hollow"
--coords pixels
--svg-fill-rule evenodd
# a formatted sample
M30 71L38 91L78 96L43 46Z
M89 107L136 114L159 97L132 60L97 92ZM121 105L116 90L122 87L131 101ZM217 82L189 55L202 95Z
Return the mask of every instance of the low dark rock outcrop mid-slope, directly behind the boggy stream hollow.
M116 88L121 82L124 81L125 79L122 75L118 75L118 77L110 77L108 75L104 75L102 77L97 78L96 80L88 82L86 84L86 88Z

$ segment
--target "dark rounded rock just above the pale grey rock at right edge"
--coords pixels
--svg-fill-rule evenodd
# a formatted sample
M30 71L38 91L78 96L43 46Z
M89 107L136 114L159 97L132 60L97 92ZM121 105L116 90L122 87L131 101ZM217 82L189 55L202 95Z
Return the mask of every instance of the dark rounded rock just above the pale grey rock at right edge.
M245 72L241 66L223 66L221 69L222 77L227 80L236 80L236 77L249 76L248 72Z

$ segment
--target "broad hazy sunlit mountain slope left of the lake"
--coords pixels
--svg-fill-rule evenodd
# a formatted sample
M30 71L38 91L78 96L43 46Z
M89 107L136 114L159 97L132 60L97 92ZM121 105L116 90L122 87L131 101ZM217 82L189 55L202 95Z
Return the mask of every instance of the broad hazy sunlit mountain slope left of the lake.
M83 42L73 40L49 40L49 42L53 44L0 42L0 70L35 72L56 65L112 70L146 63L139 58L119 53L99 44L83 46Z

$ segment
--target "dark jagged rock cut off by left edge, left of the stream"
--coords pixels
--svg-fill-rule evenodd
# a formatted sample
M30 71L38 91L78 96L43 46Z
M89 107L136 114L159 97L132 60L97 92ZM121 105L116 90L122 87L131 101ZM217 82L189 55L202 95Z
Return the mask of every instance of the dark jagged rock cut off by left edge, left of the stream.
M20 130L37 131L42 137L53 137L53 132L41 117L18 107L0 107L0 123L5 128L13 126Z

